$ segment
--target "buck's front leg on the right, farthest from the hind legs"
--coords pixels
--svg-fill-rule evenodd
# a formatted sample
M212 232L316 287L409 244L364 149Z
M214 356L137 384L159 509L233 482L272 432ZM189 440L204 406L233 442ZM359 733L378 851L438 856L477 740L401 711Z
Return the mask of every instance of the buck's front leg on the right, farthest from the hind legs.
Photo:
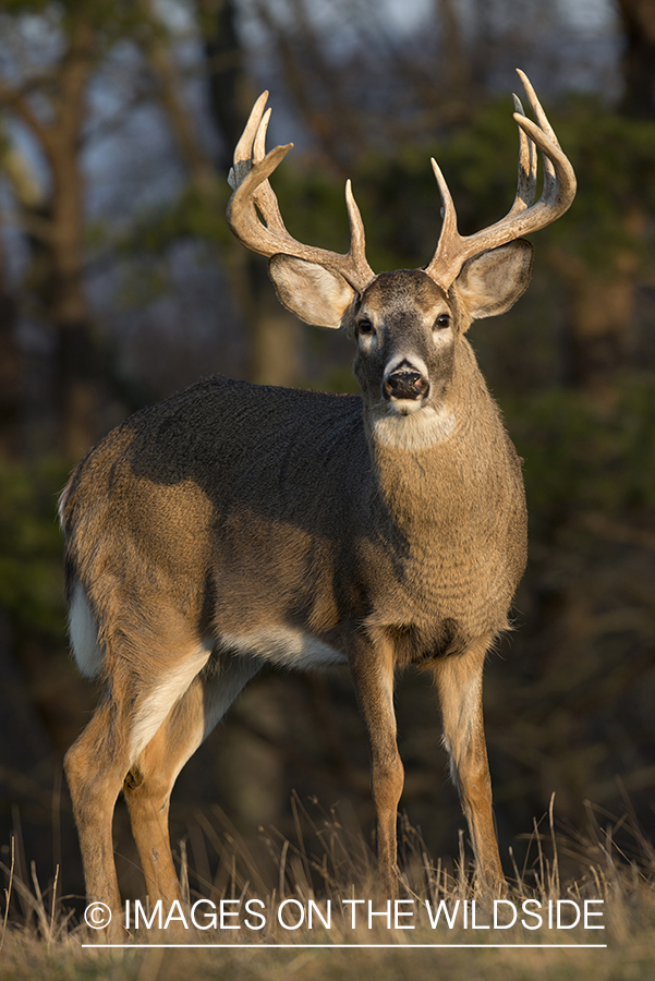
M469 824L478 885L499 895L505 889L505 877L494 828L482 713L482 673L492 639L482 638L464 654L439 661L434 676L444 722L444 743Z

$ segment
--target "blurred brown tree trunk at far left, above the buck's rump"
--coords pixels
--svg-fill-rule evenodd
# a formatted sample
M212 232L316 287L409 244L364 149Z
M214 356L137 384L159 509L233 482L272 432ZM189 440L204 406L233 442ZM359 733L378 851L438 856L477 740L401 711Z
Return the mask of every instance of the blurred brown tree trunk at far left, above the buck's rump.
M19 194L32 238L32 287L54 331L50 432L71 459L101 431L100 373L93 317L83 284L84 194L81 144L88 85L100 56L95 11L71 2L50 8L33 47L25 27L43 4L15 4L2 15L5 31L0 102L27 128L47 167L38 203ZM53 44L50 33L57 35ZM45 63L44 63L45 59ZM15 175L14 175L15 184ZM32 209L31 215L25 213ZM41 419L41 424L43 424Z

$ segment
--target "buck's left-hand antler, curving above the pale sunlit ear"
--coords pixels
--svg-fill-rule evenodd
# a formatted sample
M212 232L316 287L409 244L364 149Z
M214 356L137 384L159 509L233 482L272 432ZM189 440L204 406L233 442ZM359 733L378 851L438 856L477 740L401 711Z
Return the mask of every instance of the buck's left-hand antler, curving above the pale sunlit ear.
M350 221L350 251L347 255L303 245L284 228L278 199L268 178L287 156L293 144L276 146L265 153L266 131L270 109L264 111L268 93L263 93L251 112L241 140L234 150L234 166L228 182L234 192L228 204L228 223L240 242L260 255L293 255L318 263L340 272L360 292L374 278L366 262L364 226L352 195L350 181L345 184L345 204Z

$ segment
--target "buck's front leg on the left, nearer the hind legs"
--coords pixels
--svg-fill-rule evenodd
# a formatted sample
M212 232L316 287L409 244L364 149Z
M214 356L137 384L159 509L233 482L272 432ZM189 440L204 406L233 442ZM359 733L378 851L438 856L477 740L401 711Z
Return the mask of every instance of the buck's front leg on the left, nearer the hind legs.
M349 654L360 712L371 748L371 786L377 816L377 860L383 895L398 896L396 823L404 771L396 742L393 656L388 643L357 638Z

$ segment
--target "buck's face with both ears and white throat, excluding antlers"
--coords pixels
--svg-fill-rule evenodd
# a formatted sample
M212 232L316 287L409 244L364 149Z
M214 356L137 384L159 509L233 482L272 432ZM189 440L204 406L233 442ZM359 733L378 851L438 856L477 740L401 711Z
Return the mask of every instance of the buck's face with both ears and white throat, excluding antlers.
M361 293L338 272L286 255L271 258L269 272L284 306L355 342L354 373L379 438L421 448L452 432L449 390L464 332L473 319L509 310L531 262L523 240L483 252L448 293L421 269L380 272Z

